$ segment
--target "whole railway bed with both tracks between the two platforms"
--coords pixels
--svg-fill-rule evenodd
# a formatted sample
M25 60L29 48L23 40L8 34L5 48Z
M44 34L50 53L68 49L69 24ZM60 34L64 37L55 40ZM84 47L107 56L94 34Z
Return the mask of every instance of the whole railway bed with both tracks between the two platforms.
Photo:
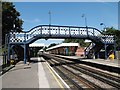
M47 55L46 55L47 57ZM71 88L103 90L120 89L120 77L93 69L74 61L58 58L54 55L48 56L48 63L63 77L68 79L73 85Z

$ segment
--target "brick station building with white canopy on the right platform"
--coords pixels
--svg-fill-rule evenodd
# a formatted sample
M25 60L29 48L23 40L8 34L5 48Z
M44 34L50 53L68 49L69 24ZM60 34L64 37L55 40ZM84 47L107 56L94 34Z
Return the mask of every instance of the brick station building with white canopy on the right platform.
M46 49L50 54L66 56L84 56L84 48L79 43L61 43Z

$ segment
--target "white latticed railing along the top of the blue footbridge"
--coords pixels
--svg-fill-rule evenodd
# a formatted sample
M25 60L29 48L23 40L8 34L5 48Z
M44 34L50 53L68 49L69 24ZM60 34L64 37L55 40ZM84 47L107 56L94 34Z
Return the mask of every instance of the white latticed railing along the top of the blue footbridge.
M92 27L39 25L28 32L10 32L10 43L30 43L36 38L99 38L103 43L113 43L113 36L103 35Z

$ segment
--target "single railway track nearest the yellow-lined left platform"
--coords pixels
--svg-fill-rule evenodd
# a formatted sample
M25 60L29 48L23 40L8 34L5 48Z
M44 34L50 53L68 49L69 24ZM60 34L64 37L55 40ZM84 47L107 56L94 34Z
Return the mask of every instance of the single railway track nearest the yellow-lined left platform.
M65 66L56 66L59 62L55 60L48 60L48 63L62 76L65 78L65 81L67 83L70 83L69 86L71 88L76 89L90 89L90 90L96 90L98 87L93 87L86 81L84 78L80 78L80 76L76 75L74 72L70 71L69 69L65 68ZM78 73L79 74L79 73ZM66 80L67 79L67 80Z

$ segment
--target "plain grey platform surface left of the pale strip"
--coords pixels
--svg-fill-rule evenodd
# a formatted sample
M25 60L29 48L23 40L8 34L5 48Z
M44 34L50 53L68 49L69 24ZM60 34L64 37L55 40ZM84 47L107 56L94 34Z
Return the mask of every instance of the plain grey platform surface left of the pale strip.
M2 88L38 88L38 64L19 62L2 76Z

